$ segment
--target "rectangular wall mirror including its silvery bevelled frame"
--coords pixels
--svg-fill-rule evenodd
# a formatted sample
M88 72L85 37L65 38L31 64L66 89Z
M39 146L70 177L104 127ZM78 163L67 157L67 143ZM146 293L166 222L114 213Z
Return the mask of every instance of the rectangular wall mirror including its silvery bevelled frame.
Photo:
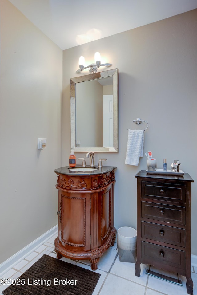
M70 79L71 149L118 152L118 69Z

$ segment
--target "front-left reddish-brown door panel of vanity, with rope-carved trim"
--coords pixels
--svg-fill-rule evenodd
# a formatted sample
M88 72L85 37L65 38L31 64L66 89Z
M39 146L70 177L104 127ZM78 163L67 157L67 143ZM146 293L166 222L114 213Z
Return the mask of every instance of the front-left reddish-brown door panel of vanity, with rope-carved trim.
M59 191L62 245L76 252L90 250L90 194Z

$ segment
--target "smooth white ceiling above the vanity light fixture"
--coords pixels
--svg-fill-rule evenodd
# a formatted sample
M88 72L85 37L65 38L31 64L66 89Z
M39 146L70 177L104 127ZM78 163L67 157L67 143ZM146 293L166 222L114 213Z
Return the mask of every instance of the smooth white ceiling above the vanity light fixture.
M197 0L9 0L62 50L197 8Z

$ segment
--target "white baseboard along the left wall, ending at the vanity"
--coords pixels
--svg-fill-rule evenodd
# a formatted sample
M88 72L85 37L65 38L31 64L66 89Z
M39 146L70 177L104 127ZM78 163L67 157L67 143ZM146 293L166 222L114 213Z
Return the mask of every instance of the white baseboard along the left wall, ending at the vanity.
M50 239L54 234L58 232L58 225L52 227L46 233L42 234L39 238L31 242L29 245L18 251L16 254L8 258L6 261L0 264L0 277L3 273L7 272L14 265L19 263L22 259L26 258L36 248L41 246L44 242Z

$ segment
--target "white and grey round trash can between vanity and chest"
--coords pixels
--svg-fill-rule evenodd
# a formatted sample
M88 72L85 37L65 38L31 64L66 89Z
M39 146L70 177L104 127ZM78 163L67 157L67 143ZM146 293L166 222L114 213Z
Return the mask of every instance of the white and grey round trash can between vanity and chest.
M121 262L136 262L137 258L137 230L123 226L117 234L118 254Z

